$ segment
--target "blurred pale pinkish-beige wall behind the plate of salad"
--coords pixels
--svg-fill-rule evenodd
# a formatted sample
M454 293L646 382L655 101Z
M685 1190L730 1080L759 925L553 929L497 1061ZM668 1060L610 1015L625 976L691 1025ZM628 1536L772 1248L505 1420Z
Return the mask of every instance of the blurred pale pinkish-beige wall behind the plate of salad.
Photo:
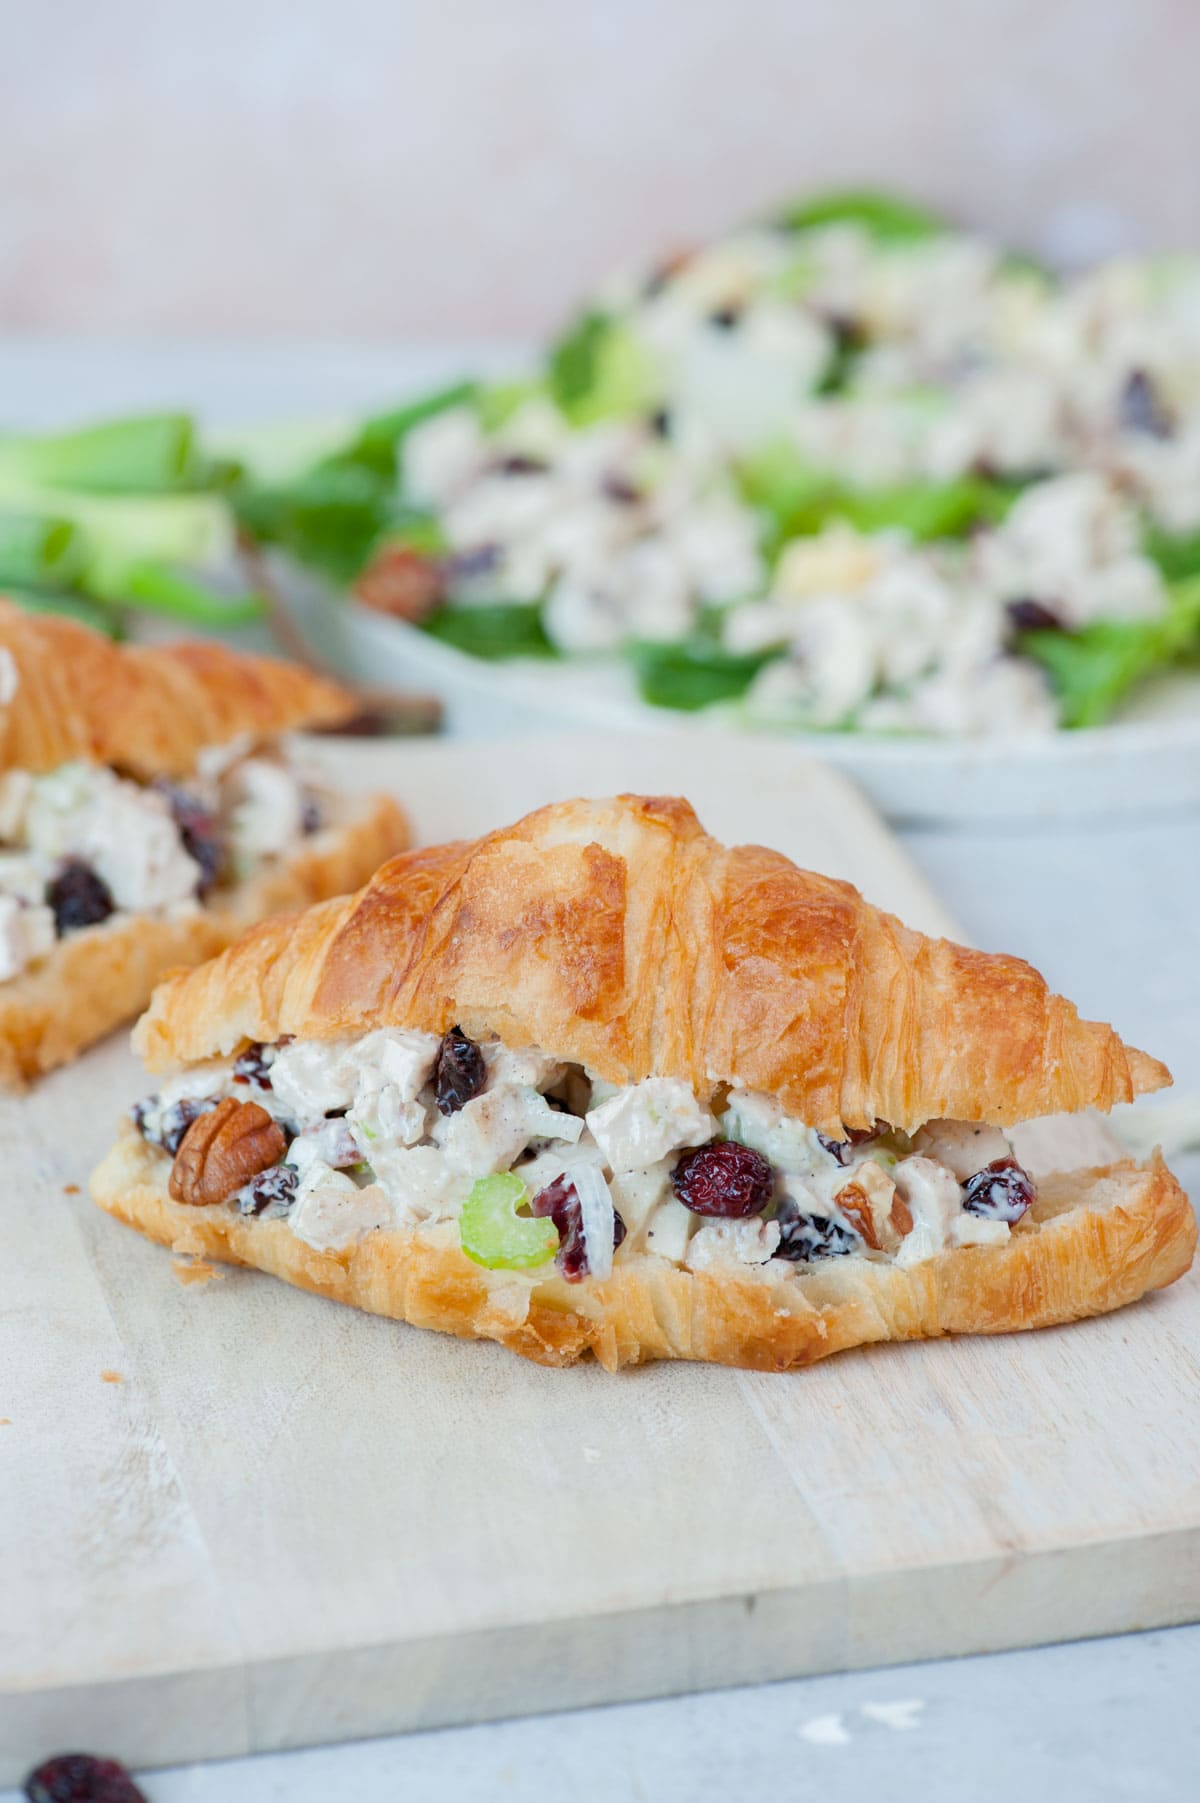
M0 0L0 328L524 337L886 180L1056 261L1196 238L1193 0Z

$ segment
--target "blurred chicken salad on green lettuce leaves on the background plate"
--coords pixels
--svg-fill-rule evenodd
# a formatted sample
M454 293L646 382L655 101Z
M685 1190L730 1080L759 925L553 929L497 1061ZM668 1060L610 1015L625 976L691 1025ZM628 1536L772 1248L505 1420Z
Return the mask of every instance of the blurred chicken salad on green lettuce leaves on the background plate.
M903 211L739 229L414 407L360 600L751 725L1108 718L1200 645L1200 260L1059 278Z

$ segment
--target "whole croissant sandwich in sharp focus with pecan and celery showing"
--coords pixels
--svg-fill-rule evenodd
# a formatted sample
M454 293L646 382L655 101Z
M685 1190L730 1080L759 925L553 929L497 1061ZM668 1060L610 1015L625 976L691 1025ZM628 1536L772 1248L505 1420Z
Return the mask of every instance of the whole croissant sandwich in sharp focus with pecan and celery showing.
M1169 1284L1196 1239L1159 1158L1036 1186L1005 1138L1160 1064L683 801L393 858L166 981L135 1046L171 1075L101 1208L548 1365L1041 1327Z

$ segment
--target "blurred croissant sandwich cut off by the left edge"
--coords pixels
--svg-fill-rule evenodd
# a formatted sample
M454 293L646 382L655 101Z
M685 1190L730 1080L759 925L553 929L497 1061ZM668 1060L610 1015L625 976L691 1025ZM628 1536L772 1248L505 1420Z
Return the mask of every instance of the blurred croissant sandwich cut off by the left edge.
M117 647L0 600L0 1084L65 1064L166 970L407 844L393 801L337 795L285 737L351 712L272 658Z

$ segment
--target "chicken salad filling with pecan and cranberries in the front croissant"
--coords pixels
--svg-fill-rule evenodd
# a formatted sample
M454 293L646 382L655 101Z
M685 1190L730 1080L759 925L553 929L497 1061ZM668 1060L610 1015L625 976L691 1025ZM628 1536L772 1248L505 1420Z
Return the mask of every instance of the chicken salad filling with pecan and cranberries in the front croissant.
M692 1271L914 1266L1007 1240L1036 1201L995 1127L831 1139L768 1094L618 1087L459 1028L250 1044L171 1078L133 1123L178 1203L283 1221L321 1253L436 1230L479 1266L566 1282L647 1253Z

